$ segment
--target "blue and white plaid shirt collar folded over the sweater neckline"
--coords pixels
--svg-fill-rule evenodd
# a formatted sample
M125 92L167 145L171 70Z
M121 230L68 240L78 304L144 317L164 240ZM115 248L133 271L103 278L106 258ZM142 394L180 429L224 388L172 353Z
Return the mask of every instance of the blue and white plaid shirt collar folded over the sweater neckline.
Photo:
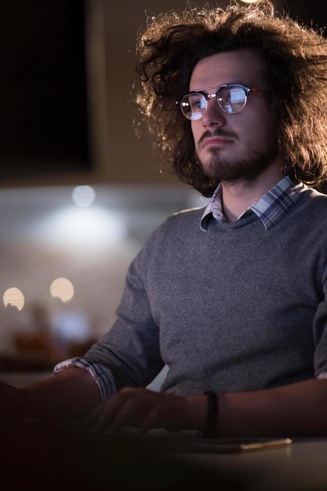
M266 230L270 230L282 219L283 216L301 197L301 193L306 189L302 182L292 182L288 176L283 177L277 184L270 189L262 198L244 210L237 218L244 217L252 211L262 221ZM227 222L222 213L222 188L218 185L214 191L210 202L204 210L200 221L200 228L203 232L207 231L210 217L213 216L219 222ZM236 221L237 221L236 220Z

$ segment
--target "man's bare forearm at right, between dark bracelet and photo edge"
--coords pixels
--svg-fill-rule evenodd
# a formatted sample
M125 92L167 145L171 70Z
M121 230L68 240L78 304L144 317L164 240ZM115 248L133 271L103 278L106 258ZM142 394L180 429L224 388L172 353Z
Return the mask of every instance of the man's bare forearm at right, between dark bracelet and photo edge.
M327 435L327 380L219 395L217 435Z

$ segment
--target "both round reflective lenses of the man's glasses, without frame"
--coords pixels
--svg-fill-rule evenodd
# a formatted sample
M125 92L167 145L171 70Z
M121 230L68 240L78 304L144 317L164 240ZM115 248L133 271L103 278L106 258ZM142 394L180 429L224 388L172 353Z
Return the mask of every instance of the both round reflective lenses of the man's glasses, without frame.
M226 113L237 113L245 106L246 94L242 87L225 87L219 91L217 102ZM190 92L182 98L180 107L187 119L200 119L207 108L207 100L199 92Z

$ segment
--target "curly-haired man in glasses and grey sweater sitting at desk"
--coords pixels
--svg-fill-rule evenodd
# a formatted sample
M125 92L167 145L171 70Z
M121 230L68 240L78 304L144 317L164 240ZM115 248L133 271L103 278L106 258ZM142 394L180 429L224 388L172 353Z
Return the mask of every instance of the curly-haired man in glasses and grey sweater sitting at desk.
M212 199L153 232L85 357L1 385L2 414L325 435L327 198L304 183L326 173L326 42L262 1L157 18L139 51L149 130Z

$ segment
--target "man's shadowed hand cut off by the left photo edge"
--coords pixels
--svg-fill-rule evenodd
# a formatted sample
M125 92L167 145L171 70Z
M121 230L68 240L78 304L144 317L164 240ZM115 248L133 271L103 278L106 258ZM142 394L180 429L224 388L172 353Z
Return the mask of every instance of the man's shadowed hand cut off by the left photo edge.
M0 382L0 422L15 421L26 417L25 394L3 382Z

